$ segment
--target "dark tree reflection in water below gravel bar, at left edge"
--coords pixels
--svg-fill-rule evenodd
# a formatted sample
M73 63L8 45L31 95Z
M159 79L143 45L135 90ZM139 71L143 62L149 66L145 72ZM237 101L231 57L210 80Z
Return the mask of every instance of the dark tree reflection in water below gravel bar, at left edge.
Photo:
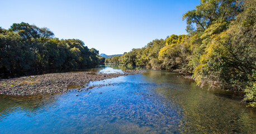
M6 116L13 111L25 111L27 113L37 113L45 106L52 105L57 95L0 95L0 121L2 116Z

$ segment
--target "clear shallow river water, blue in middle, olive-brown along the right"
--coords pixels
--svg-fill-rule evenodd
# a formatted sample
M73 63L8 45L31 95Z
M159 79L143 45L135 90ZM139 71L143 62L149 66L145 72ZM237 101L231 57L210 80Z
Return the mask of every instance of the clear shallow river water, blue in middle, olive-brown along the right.
M110 73L120 66L94 71ZM90 85L108 83L114 86L43 96L0 95L1 133L256 132L256 112L236 95L201 89L176 73L149 70Z

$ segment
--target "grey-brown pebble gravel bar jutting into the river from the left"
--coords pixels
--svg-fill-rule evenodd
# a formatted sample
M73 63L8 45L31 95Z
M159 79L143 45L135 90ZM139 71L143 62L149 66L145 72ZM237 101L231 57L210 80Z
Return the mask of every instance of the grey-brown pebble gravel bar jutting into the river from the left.
M86 83L89 82L140 73L145 73L145 70L127 70L125 73L113 74L82 71L2 79L0 81L0 94L32 95L68 92L70 90L70 86L72 87L72 85L74 88L86 88Z

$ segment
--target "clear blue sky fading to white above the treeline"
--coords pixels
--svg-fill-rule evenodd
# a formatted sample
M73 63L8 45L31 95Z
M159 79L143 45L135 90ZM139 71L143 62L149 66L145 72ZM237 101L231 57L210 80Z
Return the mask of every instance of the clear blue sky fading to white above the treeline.
M99 54L123 54L155 39L187 34L182 16L200 0L0 0L0 27L26 22Z

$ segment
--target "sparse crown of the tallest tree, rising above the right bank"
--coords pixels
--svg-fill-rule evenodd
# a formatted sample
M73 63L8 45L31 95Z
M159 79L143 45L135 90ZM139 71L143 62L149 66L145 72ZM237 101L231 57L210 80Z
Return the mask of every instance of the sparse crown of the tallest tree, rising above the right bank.
M234 20L242 9L243 1L236 0L201 0L196 9L183 15L187 21L187 31L205 31L216 22L229 22ZM196 25L196 28L194 27Z

